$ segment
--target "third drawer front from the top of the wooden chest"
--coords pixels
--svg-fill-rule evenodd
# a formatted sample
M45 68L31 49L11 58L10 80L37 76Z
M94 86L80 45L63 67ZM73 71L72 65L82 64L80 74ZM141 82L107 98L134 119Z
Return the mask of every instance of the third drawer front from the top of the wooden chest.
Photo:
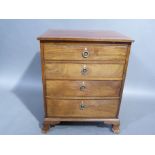
M46 80L46 95L51 97L119 96L121 81Z

